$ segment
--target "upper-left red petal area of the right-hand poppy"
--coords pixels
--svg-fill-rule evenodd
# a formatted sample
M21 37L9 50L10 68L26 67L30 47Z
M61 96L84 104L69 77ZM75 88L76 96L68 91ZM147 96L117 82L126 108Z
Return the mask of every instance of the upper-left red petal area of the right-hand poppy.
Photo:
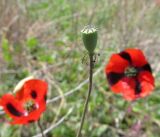
M125 68L129 65L128 61L122 58L119 54L113 54L109 63L105 67L105 72L123 73Z

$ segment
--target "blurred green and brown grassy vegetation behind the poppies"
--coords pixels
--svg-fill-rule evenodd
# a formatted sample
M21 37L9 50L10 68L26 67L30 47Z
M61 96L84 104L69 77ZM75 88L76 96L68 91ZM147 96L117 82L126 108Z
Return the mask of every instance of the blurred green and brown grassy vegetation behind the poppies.
M80 30L99 29L100 53L83 137L160 137L160 5L158 0L0 0L0 96L19 80L36 75L49 83L48 99L63 96L88 78L82 63L85 49ZM129 103L113 94L103 72L109 56L126 47L145 52L156 78L155 91ZM87 59L86 59L87 62ZM47 137L75 137L87 84L75 93L49 103L43 129L73 111ZM3 122L2 137L30 137L36 123L13 126Z

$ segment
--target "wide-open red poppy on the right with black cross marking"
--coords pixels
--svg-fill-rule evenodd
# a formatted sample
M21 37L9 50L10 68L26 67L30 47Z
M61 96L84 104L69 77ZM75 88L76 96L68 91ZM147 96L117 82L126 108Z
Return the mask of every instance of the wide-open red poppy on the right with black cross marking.
M151 67L139 49L113 54L105 73L111 90L129 101L145 97L154 89Z

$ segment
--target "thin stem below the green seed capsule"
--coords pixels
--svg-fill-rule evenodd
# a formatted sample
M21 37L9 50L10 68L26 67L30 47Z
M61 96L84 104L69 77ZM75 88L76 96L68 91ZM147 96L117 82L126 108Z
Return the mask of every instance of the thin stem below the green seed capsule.
M84 110L81 118L81 123L80 123L80 128L78 130L77 136L76 137L81 137L81 130L83 128L84 120L85 120L85 115L88 110L88 103L89 103L89 98L92 92L92 77L93 77L93 54L89 54L89 59L90 59L90 70L89 70L89 88L88 88L88 95L85 101L84 105Z

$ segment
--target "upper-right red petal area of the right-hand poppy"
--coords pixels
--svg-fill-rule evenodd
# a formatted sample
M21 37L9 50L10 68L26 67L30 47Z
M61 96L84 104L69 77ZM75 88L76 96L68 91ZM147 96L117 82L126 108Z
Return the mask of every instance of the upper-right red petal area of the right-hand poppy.
M140 49L126 49L132 60L132 65L136 67L142 67L147 64L146 58Z

